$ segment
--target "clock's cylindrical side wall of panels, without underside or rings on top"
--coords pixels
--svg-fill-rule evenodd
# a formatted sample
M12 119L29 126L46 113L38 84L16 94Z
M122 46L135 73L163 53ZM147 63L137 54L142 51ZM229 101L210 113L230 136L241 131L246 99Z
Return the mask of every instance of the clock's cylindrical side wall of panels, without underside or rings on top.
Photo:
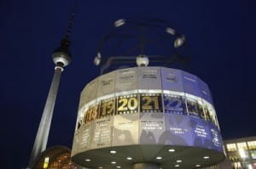
M222 151L207 84L160 67L115 70L90 82L81 94L73 151L132 144Z

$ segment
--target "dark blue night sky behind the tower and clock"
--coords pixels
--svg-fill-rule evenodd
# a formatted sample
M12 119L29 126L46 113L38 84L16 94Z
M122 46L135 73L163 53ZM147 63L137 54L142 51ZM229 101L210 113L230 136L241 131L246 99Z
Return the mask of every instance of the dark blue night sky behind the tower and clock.
M29 161L54 74L50 55L67 30L74 2L0 1L0 168ZM73 63L61 76L48 147L71 148L79 93L99 76L92 61L102 35L114 20L141 15L170 20L186 35L190 73L209 85L223 138L256 135L255 1L77 2Z

